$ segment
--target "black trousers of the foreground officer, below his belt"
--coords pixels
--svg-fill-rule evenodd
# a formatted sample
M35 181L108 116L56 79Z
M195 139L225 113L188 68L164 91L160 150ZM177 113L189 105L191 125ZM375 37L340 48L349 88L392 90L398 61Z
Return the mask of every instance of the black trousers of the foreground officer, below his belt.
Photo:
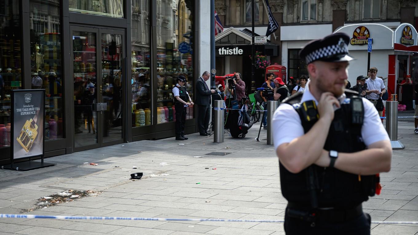
M320 220L320 219L319 219ZM359 217L344 222L315 222L312 227L310 222L302 221L285 213L285 232L286 235L370 235L370 215L363 213Z

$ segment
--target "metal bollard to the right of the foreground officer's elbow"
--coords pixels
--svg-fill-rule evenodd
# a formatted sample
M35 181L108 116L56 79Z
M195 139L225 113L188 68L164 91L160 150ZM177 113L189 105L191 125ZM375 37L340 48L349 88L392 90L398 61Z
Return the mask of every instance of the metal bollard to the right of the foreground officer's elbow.
M386 131L392 149L404 149L398 140L398 101L386 101Z

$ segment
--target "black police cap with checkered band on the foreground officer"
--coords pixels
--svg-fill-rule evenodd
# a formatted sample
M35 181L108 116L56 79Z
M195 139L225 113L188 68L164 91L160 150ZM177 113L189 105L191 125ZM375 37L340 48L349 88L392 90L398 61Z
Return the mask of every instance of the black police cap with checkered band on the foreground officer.
M334 33L325 38L309 42L299 56L306 60L306 64L314 61L339 62L350 61L354 58L348 53L350 37L345 33Z

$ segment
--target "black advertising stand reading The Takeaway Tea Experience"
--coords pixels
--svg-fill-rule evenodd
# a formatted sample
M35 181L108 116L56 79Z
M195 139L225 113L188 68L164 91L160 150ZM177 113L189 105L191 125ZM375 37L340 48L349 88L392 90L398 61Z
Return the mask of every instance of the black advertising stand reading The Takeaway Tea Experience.
M56 165L43 162L45 89L12 90L11 110L10 164L1 168L28 171ZM41 162L31 161L36 157Z

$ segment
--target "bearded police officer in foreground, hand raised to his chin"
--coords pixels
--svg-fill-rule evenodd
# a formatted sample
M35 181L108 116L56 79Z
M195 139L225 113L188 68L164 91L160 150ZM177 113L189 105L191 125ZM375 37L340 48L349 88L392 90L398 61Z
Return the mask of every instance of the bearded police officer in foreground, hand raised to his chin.
M274 113L286 234L370 234L362 202L380 193L392 148L373 104L344 89L349 39L334 33L308 43L300 56L309 82Z

